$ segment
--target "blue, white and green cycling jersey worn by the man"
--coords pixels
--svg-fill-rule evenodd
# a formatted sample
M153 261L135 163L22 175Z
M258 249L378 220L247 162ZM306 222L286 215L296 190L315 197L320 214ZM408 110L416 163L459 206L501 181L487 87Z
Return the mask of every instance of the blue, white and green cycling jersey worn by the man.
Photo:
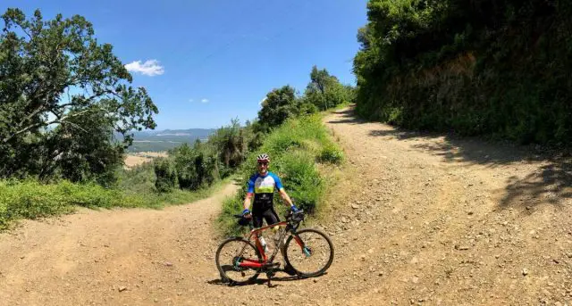
M277 175L267 172L265 176L259 173L248 180L248 194L254 194L252 210L266 210L272 207L274 188L282 189L282 182Z

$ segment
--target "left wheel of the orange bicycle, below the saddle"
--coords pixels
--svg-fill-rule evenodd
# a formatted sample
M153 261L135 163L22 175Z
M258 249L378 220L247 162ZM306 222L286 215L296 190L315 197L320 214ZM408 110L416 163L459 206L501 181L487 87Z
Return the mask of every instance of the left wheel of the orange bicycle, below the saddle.
M231 285L244 285L255 280L260 274L260 269L240 267L240 262L262 262L262 255L254 244L243 238L234 237L223 241L218 247L215 261L223 280L229 281Z

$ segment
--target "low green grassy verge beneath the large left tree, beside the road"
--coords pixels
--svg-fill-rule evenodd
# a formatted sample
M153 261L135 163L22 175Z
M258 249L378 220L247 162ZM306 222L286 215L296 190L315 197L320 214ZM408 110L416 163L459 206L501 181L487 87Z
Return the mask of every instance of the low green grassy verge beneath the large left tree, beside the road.
M36 180L0 181L0 229L9 227L17 219L38 219L70 213L78 206L91 209L158 209L165 205L190 203L206 198L230 181L228 178L193 192L177 189L171 193L157 193L152 163L133 170L121 170L118 175L119 181L114 188L69 181L47 185Z

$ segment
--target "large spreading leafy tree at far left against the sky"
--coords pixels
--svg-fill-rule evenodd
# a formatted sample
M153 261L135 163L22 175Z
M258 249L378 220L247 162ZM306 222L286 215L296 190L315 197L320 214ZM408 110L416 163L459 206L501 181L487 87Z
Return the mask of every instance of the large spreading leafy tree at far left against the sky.
M121 155L131 145L132 130L156 127L153 115L158 110L147 91L130 86L130 73L112 45L100 45L83 17L63 19L58 14L44 21L39 11L26 19L20 10L8 9L2 18L0 177L89 177L58 170L72 167L62 162L65 156L88 159L85 173L109 172L121 163L110 156ZM97 137L80 141L94 130ZM113 132L122 139L114 139ZM121 144L113 145L116 141ZM108 154L92 154L98 148Z

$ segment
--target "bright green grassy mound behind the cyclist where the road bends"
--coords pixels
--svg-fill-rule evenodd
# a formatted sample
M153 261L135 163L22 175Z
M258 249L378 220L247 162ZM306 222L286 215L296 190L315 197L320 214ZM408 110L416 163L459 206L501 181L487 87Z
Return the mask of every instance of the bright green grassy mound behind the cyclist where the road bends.
M282 179L282 185L294 203L311 216L324 210L324 194L331 186L331 177L324 176L320 169L335 167L343 160L343 153L332 141L320 114L287 120L266 136L264 144L240 167L237 179L244 184L235 197L223 203L223 211L217 220L223 236L237 235L241 231L232 215L242 211L246 182L257 171L258 153L270 155L269 170ZM274 208L282 218L286 208L278 194L274 196Z

